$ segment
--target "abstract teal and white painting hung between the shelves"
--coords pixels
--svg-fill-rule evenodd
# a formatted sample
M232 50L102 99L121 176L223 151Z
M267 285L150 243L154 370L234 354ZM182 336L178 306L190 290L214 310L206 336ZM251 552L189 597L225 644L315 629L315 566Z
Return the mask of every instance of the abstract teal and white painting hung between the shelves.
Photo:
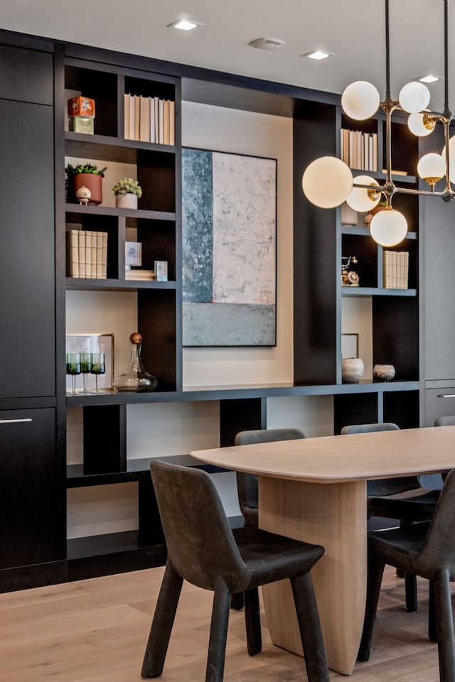
M276 344L277 160L183 148L183 345Z

